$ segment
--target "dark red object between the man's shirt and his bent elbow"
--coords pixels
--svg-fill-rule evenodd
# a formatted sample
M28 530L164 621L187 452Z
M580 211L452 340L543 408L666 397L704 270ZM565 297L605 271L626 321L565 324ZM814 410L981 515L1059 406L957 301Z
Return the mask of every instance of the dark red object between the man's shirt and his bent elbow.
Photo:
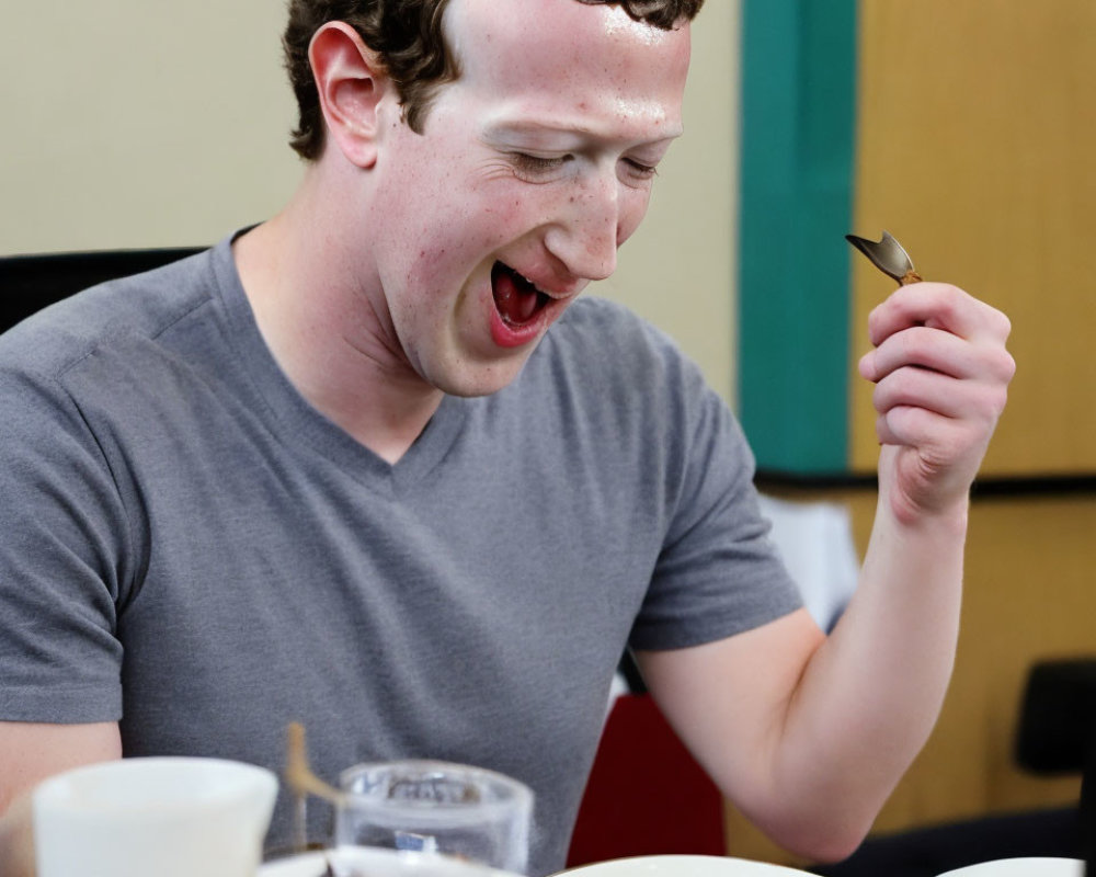
M665 853L726 855L723 799L651 697L626 694L602 733L567 864Z

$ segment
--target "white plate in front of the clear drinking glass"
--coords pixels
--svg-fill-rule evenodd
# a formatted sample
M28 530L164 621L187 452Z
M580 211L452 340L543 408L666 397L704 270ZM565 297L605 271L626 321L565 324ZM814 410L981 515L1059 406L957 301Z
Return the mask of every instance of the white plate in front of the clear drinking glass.
M259 868L259 877L322 877L328 862L340 877L355 872L364 877L516 877L444 856L366 846L340 846L270 862Z

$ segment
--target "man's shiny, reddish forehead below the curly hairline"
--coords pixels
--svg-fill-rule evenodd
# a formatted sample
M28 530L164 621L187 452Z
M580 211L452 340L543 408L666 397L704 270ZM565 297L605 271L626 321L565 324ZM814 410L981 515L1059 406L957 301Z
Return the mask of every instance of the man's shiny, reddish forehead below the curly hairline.
M452 0L445 32L458 88L500 113L573 115L620 134L681 132L687 24L663 31L618 5L579 0Z

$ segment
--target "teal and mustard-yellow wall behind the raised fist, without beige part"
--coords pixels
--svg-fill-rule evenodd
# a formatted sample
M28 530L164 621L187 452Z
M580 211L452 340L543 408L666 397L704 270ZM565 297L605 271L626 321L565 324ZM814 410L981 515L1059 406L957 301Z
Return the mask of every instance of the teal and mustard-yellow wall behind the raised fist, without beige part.
M763 489L849 509L863 553L877 441L856 361L893 283L837 251L844 231L890 231L925 278L1013 321L955 676L876 835L955 828L936 841L973 848L951 867L1023 853L1020 838L1046 854L1035 827L1076 807L1081 761L1020 756L1026 686L1037 664L1096 652L1096 4L744 0L741 24L735 387ZM1071 696L1064 720L1092 758L1096 695ZM731 812L732 848L764 856ZM934 873L886 865L863 873Z

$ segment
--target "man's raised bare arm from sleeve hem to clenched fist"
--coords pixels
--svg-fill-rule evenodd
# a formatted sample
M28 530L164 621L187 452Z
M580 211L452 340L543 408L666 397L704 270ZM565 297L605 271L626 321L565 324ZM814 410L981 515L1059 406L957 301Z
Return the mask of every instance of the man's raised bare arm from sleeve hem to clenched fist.
M638 656L666 717L781 845L835 859L863 840L924 745L959 627L968 492L1014 364L1003 315L944 284L903 287L869 323L879 505L859 586L825 638L798 612L729 639Z

